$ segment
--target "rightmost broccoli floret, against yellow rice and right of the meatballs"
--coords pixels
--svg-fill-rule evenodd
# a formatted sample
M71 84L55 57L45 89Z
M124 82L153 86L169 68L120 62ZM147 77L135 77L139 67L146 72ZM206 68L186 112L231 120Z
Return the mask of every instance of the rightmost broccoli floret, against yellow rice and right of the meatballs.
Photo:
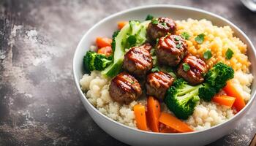
M208 82L212 87L223 88L225 87L227 80L230 80L234 77L234 70L232 67L219 62L215 64L207 73L206 73L206 82Z

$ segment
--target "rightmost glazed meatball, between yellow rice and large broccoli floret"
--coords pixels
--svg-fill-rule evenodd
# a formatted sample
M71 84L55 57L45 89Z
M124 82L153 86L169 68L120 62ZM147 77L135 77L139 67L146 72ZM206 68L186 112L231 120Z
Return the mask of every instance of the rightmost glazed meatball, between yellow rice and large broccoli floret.
M187 69L184 66L189 65ZM185 70L184 70L185 68ZM186 71L187 70L187 71ZM203 82L203 74L206 73L206 63L194 55L187 55L181 64L178 66L178 76L183 77L192 85L197 85Z

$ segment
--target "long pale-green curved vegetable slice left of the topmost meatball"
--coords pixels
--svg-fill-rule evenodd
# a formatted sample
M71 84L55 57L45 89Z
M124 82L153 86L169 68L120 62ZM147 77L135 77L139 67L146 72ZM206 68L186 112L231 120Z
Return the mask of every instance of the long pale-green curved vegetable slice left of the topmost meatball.
M125 50L129 49L133 46L142 45L146 42L146 27L148 26L150 21L145 21L140 23L136 20L129 21L129 25L125 25L121 28L120 32L114 37L113 45L114 52L113 52L113 62L102 71L102 74L107 77L114 77L118 74L121 70L121 66L124 61L124 54ZM135 36L136 42L131 44L134 39L128 40L130 36ZM132 37L130 37L131 39Z

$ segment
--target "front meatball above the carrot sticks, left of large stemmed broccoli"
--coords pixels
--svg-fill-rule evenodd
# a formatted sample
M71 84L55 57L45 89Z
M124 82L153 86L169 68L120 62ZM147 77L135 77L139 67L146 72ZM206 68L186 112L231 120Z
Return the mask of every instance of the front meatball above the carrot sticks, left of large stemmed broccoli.
M160 101L165 98L165 92L173 84L174 78L164 72L152 72L146 80L146 91L149 96L155 96Z

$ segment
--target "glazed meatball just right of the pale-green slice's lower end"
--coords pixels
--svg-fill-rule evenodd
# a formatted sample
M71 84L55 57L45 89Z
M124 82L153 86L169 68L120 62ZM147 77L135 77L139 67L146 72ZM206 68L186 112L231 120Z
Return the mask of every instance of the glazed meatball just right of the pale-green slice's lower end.
M145 47L132 47L124 55L123 68L137 77L143 77L152 68L153 61Z

